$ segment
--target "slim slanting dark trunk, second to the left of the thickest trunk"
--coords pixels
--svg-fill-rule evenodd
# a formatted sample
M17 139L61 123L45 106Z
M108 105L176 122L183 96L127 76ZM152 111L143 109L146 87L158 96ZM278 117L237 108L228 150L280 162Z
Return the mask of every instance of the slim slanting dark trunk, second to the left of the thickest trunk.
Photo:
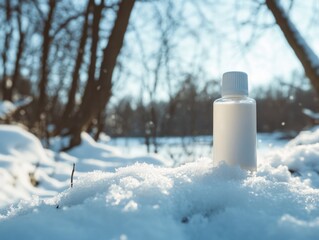
M67 126L71 115L73 114L74 106L75 106L75 95L78 88L80 69L83 62L85 45L88 37L88 28L89 28L89 15L91 12L91 8L93 6L94 1L89 0L87 9L84 15L84 22L82 26L82 34L80 43L78 46L78 55L76 57L75 66L72 74L72 84L68 94L68 102L64 108L61 120L58 123L58 126L55 129L55 135L60 134L63 127Z

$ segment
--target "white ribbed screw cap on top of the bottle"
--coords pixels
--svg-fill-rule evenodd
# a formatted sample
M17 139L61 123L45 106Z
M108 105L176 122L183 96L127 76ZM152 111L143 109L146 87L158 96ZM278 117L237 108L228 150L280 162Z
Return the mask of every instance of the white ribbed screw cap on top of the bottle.
M225 72L222 79L222 96L248 96L248 76L244 72Z

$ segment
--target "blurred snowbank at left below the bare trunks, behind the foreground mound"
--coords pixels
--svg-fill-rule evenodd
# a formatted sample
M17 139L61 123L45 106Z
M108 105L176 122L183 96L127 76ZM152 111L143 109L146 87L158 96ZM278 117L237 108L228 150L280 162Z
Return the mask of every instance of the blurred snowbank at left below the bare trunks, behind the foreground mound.
M32 195L52 197L67 189L73 163L74 177L89 171L114 172L134 163L168 166L158 155L128 157L116 148L95 142L82 133L82 144L71 151L59 152L66 138L52 140L52 149L44 149L31 133L18 126L0 125L0 208Z

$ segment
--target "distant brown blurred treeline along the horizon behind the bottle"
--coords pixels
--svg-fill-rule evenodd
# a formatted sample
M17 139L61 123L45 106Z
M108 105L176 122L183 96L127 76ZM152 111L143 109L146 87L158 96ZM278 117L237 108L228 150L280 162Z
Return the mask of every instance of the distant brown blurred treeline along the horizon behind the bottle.
M170 100L148 104L125 98L107 111L105 131L111 136L210 135L213 101L219 96L207 86L198 89L186 81ZM251 95L257 102L258 132L300 131L315 122L303 110L319 111L318 96L311 88L277 84L254 89Z

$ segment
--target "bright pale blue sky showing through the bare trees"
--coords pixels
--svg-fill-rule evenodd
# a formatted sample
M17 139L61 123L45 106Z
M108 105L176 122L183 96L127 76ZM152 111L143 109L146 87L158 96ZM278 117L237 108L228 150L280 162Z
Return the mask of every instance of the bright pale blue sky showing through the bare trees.
M86 1L82 0L77 3L82 5L84 2ZM170 74L168 77L165 69L159 71L155 91L157 99L167 99L170 94L174 94L187 74L196 75L196 83L201 88L212 80L220 80L226 71L244 71L248 73L250 89L254 89L272 84L276 78L290 82L294 71L303 73L299 60L274 23L267 7L262 6L256 13L256 0L171 0L174 3L173 10L164 4L166 2L136 2L121 53L124 59L124 68L121 71L124 69L125 73L120 76L119 81L116 74L114 76L115 101L125 96L131 96L137 101L140 98L149 101L150 94L145 89L154 86L154 56L159 52L158 39L163 29L168 29L167 39L171 48L168 56ZM288 9L291 1L280 2ZM289 12L291 21L317 55L318 10L317 0L294 0ZM111 11L106 11L102 29L111 28L114 16L109 12ZM169 17L175 21L173 23L177 26L176 30L169 29L168 25L172 24L167 21ZM160 21L162 25L159 24ZM240 24L243 22L247 24ZM260 25L265 23L271 26L261 28ZM101 34L106 32L101 31ZM253 33L259 37L250 43ZM102 39L104 38L106 39L103 35ZM139 40L141 44L138 43ZM250 43L249 47L245 47L244 43L247 41ZM105 44L106 41L101 41L101 48ZM161 61L163 65L165 59ZM145 65L150 72L145 70ZM86 79L85 73L82 73L81 78ZM56 79L54 80L52 82L55 84Z

